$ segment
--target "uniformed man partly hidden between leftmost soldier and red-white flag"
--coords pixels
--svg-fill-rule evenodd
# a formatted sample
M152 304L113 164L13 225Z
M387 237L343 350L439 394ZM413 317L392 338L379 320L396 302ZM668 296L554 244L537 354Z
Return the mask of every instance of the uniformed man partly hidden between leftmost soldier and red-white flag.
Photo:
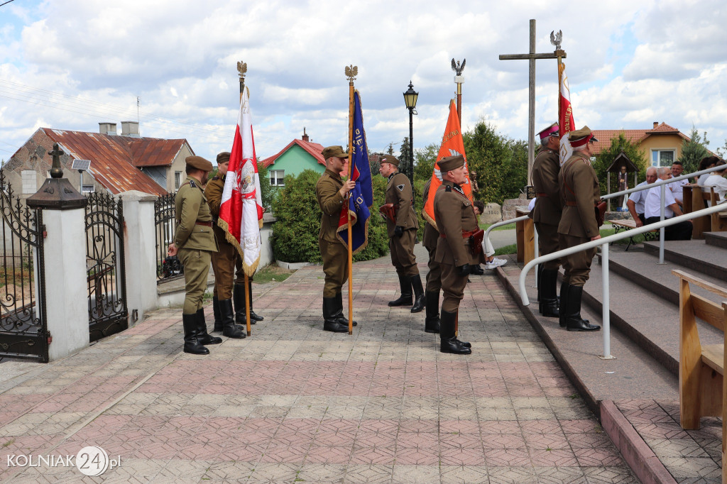
M217 225L220 217L222 191L225 190L225 175L230 163L230 153L217 155L217 176L207 182L204 195L209 210L212 212L212 230L219 250L212 254L212 270L214 271L214 291L212 310L214 312L214 330L222 331L223 336L241 339L245 337L242 328L235 324L232 307L232 284L235 262L239 259L237 249L225 238L225 230Z

